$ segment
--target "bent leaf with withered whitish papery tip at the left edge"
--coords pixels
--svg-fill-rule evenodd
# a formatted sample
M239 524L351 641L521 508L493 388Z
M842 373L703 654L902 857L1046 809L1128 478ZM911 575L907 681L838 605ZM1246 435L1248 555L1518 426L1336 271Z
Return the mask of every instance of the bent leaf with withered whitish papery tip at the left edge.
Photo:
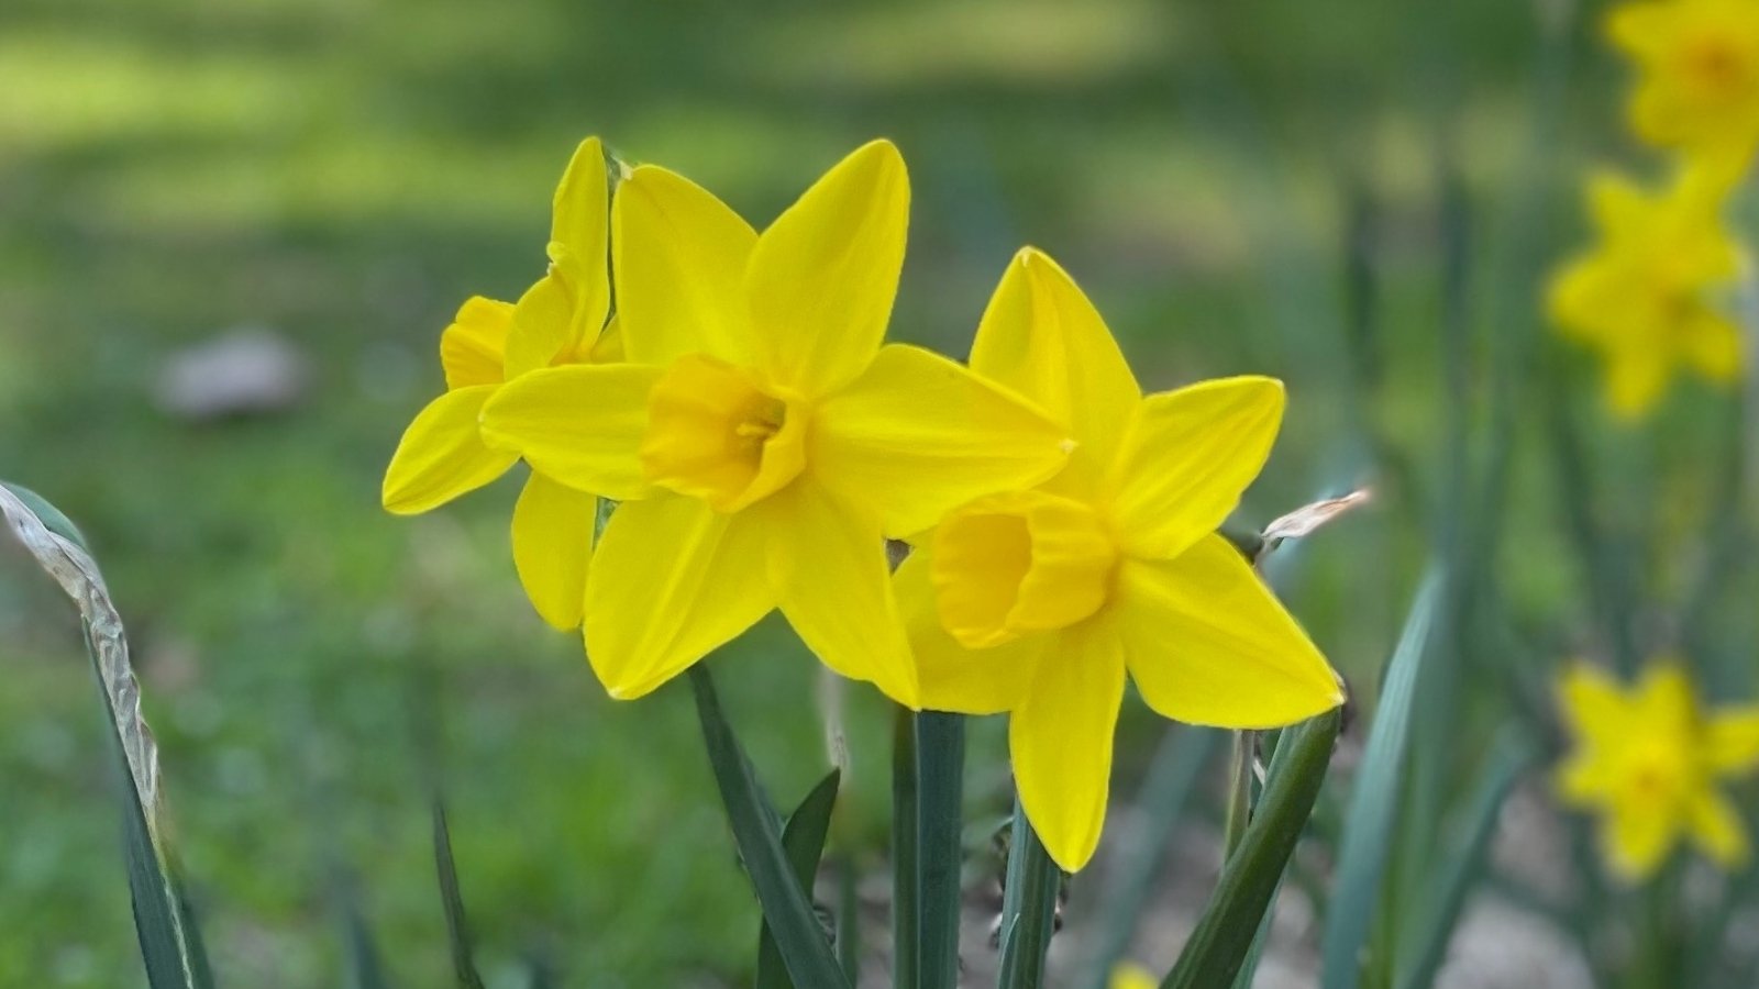
M79 530L35 493L0 484L0 517L49 577L74 598L123 785L123 859L141 961L153 989L208 989L213 973L193 915L158 836L158 744L141 714L121 614Z

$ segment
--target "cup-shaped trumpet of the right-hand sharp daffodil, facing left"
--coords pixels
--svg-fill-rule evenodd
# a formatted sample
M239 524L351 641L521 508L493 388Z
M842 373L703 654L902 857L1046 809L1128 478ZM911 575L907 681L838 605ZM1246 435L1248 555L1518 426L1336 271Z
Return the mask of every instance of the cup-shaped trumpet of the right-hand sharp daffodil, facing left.
M1018 491L955 509L934 530L941 625L967 649L1064 628L1112 593L1117 544L1091 507Z

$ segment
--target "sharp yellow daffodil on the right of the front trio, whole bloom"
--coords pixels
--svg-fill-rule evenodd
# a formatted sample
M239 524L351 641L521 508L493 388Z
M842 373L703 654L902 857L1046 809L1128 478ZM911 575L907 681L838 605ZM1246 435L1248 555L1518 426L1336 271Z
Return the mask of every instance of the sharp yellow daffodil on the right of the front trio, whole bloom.
M1282 384L1223 378L1143 398L1099 313L1020 252L971 368L1071 428L1047 484L948 514L899 567L925 707L1011 713L1020 802L1068 871L1105 822L1124 674L1150 707L1263 729L1344 700L1337 676L1215 526L1258 475Z

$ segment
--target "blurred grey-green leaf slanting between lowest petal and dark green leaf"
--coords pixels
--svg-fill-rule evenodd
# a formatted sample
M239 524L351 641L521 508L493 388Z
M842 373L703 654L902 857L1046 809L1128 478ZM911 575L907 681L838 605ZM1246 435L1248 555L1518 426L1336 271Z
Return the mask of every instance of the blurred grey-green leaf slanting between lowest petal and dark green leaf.
M1221 732L1210 729L1170 727L1154 751L1149 776L1136 794L1143 829L1128 848L1120 850L1117 866L1106 869L1120 880L1117 889L1106 890L1101 899L1099 922L1092 934L1096 949L1085 970L1089 989L1106 989L1112 970L1129 950L1136 922L1171 846L1173 829L1184 818L1191 792L1196 790L1221 737L1224 737Z

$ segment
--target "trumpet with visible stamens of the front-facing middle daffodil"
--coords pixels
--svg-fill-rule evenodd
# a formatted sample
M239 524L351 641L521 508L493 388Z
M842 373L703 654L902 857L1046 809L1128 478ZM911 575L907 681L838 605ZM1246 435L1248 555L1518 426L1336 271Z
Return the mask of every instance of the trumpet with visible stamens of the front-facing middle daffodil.
M806 415L756 373L714 357L681 357L647 398L647 480L737 512L799 477Z

